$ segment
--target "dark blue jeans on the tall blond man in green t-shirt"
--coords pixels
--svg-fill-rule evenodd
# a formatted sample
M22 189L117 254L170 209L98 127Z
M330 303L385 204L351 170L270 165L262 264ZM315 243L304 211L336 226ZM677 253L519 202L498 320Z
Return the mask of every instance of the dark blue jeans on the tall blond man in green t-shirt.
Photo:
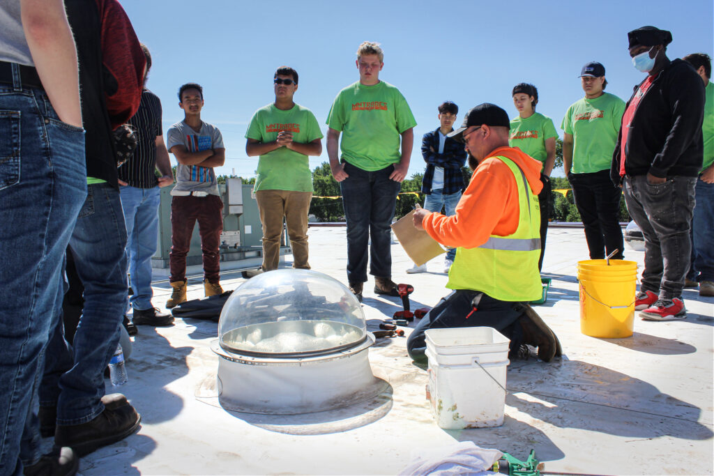
M364 283L367 280L367 243L369 273L380 278L391 278L391 224L396 208L396 198L401 183L389 175L394 166L379 171L364 171L345 163L349 177L340 182L342 206L347 221L347 280Z

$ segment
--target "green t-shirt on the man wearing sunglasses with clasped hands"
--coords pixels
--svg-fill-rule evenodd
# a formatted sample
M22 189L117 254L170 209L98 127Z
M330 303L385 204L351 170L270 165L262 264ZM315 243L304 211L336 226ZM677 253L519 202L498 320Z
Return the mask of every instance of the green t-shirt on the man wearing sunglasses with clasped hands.
M246 138L272 142L280 131L292 132L293 141L299 143L322 138L320 125L310 109L296 104L288 111L282 111L272 103L253 114ZM286 147L260 156L254 190L313 191L308 156Z

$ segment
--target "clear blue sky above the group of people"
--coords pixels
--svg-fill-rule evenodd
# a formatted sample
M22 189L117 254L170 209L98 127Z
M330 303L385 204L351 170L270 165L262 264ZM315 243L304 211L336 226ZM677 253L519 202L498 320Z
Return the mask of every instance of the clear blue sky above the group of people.
M605 65L606 91L624 100L643 79L628 56L628 31L670 30L670 59L714 50L711 0L120 1L151 50L148 86L163 103L164 132L183 118L178 86L201 83L202 118L221 129L226 143L226 166L217 172L243 177L254 176L257 166L245 153L248 121L274 100L276 68L298 71L295 100L315 113L324 134L336 94L358 80L355 51L364 40L382 44L380 79L400 89L418 123L409 176L423 171L421 136L438 126L443 101L458 104L458 123L486 101L513 117L511 89L533 83L537 111L553 118L562 138L563 114L583 96L583 64ZM323 151L311 168L328 160L324 140Z

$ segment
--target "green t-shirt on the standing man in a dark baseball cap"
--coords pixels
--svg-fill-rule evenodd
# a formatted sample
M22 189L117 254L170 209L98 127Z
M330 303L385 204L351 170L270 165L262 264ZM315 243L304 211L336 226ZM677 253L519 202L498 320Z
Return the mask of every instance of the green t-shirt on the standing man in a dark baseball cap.
M573 136L573 166L570 172L592 173L610 169L625 101L603 93L582 98L568 108L560 128Z

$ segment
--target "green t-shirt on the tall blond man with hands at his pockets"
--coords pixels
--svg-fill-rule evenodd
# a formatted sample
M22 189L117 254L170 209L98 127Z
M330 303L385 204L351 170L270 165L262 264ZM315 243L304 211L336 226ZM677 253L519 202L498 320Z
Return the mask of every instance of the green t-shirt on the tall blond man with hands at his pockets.
M400 134L416 121L397 88L384 81L374 86L358 81L338 93L326 124L342 133L344 161L378 171L400 161Z

